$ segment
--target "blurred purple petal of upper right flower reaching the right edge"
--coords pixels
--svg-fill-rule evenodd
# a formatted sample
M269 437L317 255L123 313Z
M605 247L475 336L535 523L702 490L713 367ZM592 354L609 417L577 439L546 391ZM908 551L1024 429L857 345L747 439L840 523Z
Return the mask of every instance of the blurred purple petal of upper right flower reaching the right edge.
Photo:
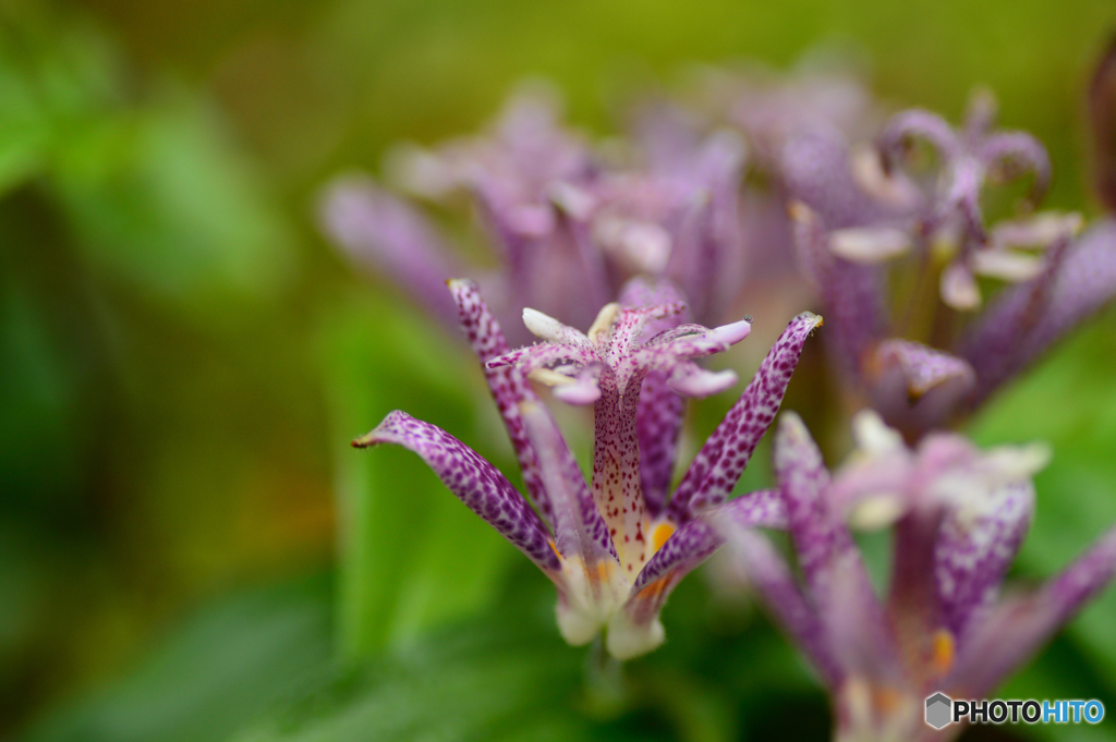
M959 344L959 355L977 373L972 406L1116 297L1116 221L1096 222L1070 244L1049 289L1036 300L1043 280L1004 291Z

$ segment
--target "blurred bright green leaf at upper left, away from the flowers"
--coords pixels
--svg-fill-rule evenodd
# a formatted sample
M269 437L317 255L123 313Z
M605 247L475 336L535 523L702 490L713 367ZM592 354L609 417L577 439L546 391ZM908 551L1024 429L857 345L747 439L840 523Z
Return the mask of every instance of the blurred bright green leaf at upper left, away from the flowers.
M290 282L287 227L214 112L183 94L67 137L52 182L89 260L228 324Z

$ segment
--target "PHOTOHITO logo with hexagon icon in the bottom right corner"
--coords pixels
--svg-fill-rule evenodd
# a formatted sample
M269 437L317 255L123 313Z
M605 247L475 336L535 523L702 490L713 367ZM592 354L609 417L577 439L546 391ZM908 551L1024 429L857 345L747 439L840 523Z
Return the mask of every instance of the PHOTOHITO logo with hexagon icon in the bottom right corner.
M926 723L934 729L947 724L1099 724L1105 704L1099 701L954 701L944 693L926 698Z

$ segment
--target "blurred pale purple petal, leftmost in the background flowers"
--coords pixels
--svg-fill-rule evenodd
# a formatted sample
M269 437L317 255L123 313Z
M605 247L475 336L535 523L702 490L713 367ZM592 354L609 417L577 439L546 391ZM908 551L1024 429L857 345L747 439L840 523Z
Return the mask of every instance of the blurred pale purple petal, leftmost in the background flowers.
M349 179L323 197L321 222L354 262L386 273L419 306L456 326L458 309L444 283L461 269L422 214L369 180Z

